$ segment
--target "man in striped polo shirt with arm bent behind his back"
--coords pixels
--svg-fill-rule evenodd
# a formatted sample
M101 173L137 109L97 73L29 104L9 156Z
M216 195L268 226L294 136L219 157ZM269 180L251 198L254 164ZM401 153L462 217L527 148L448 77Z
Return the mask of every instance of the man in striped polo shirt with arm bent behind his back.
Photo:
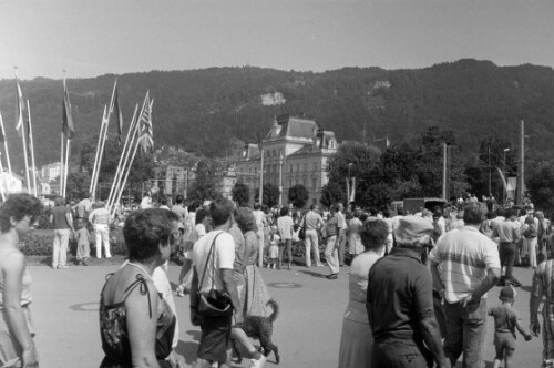
M496 244L479 232L484 204L465 206L464 226L441 236L429 254L434 287L444 295L444 354L452 367L463 354L463 367L481 368L486 337L486 292L500 279Z

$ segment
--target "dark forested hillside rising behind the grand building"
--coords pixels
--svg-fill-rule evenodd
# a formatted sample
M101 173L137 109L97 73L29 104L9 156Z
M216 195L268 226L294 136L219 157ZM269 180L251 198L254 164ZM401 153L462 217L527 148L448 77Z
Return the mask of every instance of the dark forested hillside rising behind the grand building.
M232 139L259 142L280 113L305 113L320 127L335 131L339 141L370 142L388 134L398 144L438 125L452 130L466 152L476 152L486 136L517 146L519 121L524 119L527 157L554 155L552 68L460 60L419 70L346 68L314 73L246 67L68 79L74 144L98 135L115 76L125 126L135 103L150 90L155 144L182 145L207 156L225 155ZM31 104L38 163L59 160L61 80L23 80L21 88ZM279 101L279 93L283 104L267 102L267 96ZM0 81L0 110L12 161L21 162L13 80ZM110 132L115 134L113 122Z

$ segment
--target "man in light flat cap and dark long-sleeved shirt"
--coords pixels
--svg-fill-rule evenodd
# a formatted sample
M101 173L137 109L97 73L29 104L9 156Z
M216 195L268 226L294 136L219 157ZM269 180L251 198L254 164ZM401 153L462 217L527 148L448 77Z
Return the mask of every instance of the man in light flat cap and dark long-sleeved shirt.
M433 311L432 279L421 262L433 226L406 216L394 229L397 247L369 272L366 308L373 334L371 367L448 367Z

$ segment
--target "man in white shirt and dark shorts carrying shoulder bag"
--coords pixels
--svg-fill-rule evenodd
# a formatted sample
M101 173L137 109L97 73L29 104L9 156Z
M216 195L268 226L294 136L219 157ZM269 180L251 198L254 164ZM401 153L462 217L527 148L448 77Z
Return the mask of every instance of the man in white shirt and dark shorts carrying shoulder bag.
M244 321L237 286L233 278L235 241L228 233L233 208L233 202L226 198L211 203L209 214L214 229L199 238L192 252L194 274L191 287L191 321L202 328L197 359L193 365L195 368L211 367L214 362L219 367L230 367L230 355L227 355L230 333L250 352L252 367L263 367L265 364L265 357L256 351L246 334L240 328L232 327ZM204 294L212 288L229 295L233 316L214 317L198 314L197 292Z

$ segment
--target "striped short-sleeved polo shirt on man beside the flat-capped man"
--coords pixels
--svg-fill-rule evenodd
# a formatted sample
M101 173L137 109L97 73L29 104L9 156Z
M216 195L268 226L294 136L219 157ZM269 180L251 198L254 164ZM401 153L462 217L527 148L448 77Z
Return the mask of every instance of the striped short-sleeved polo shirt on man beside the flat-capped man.
M481 285L489 269L500 268L496 244L472 226L444 234L429 254L429 259L441 266L448 303L464 299Z

